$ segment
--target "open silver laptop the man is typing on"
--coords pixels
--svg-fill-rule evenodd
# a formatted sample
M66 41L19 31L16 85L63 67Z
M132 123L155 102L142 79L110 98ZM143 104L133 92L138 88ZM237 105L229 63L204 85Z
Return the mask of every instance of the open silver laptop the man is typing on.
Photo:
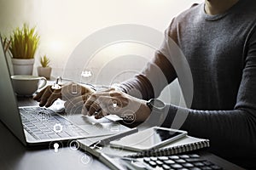
M0 41L0 120L25 145L49 144L53 141L71 141L106 136L128 127L107 118L99 122L94 117L77 114L72 121L59 113L39 106L18 107L9 73L8 60Z

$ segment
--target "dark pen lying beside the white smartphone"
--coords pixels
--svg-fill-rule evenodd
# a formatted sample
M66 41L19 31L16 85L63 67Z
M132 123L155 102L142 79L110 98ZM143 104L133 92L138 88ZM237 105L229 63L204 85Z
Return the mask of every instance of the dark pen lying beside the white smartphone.
M113 134L112 136L110 136L110 137L108 137L108 138L106 138L106 139L98 140L98 141L96 141L95 143L90 144L90 147L91 147L92 149L95 149L95 148L98 147L98 146L103 146L103 145L105 145L105 144L109 144L109 143L110 143L111 141L113 141L113 140L120 139L120 138L123 138L123 137L125 137L125 136L127 136L127 135L130 135L130 134L132 134L132 133L137 133L137 132L138 132L137 127L134 127L134 128L131 128L131 129L125 131L125 132Z

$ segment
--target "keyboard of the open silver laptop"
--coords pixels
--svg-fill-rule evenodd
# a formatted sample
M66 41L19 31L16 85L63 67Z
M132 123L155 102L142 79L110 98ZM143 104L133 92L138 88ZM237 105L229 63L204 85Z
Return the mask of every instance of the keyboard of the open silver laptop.
M35 139L79 138L88 134L47 108L20 108L20 116L23 127Z

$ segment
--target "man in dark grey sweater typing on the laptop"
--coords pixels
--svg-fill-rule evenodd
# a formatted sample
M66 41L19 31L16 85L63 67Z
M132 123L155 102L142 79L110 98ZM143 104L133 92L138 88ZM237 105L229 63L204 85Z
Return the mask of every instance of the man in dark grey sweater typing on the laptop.
M210 139L211 150L218 156L242 167L255 168L256 3L206 0L174 18L166 34L188 61L194 94L190 109L165 105L168 115L163 126L171 127L176 114L188 113L182 129L190 135ZM138 122L145 121L152 110L148 99L156 98L164 88L154 68L160 68L167 83L175 78L180 80L172 63L175 56L166 50L169 42L163 43L140 75L119 86L125 93L113 89L90 92L90 95L83 93L84 114L97 113L96 118L101 118L111 110L109 103L115 101L121 109L129 105ZM186 98L188 90L183 84L181 88ZM137 89L142 99L132 97L136 96L132 89ZM40 105L49 106L56 97L61 96L44 90L35 99ZM76 105L77 100L78 97L68 100L67 107Z

